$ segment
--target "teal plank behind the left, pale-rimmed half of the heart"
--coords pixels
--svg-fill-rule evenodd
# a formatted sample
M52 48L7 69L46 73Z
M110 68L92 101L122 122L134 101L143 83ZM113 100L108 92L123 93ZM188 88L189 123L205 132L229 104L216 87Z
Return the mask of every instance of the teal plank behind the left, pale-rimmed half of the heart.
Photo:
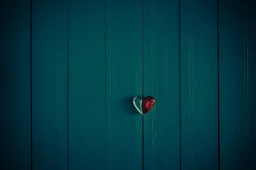
M142 2L106 0L106 170L142 170Z

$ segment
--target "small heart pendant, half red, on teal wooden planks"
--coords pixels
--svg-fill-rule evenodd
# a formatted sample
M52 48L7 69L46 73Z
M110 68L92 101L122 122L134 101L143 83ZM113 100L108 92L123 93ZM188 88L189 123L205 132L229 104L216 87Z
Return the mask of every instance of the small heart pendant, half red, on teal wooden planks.
M134 97L133 103L135 108L140 112L140 114L147 113L154 105L154 97L148 96L142 99L141 97Z

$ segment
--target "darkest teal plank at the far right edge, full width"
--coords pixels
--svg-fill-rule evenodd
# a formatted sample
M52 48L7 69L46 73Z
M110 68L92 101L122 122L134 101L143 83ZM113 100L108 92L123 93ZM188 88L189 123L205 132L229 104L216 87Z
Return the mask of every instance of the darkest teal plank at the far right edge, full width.
M220 168L223 170L256 169L255 10L254 0L219 0Z

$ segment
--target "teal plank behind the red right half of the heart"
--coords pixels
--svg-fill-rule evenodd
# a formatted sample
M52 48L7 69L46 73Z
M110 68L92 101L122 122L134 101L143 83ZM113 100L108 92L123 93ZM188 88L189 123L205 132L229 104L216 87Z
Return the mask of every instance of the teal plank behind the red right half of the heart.
M143 1L144 169L180 169L179 0Z

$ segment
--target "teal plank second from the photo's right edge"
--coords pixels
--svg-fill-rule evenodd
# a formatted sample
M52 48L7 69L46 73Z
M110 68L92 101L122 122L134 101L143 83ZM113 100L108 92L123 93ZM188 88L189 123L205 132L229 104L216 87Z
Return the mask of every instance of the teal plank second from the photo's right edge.
M218 169L217 30L217 0L180 1L183 170Z

